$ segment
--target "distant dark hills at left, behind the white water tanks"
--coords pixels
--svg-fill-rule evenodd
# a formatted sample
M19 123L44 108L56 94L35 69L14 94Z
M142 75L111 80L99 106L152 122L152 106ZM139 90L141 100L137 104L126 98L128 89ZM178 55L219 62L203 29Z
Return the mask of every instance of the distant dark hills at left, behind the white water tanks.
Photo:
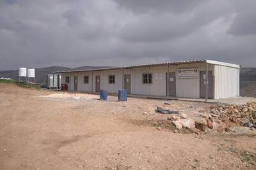
M106 67L106 66L102 66ZM68 67L60 67L60 66L52 66L52 67L42 67L36 68L36 83L44 83L46 81L46 74L52 73L54 71L68 71L68 70L81 70L81 69L98 69L102 68L100 66L82 66L82 67L75 67L75 68L68 68ZM0 78L12 78L13 80L19 80L19 70L6 70L0 71Z

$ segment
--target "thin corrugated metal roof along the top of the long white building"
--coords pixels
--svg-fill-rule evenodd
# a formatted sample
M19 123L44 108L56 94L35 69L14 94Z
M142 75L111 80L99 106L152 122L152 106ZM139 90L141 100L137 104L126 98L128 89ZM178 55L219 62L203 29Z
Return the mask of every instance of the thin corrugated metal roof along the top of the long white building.
M187 61L179 61L179 62L162 62L162 63L154 63L154 64L142 64L142 65L134 65L134 66L124 66L124 67L107 67L107 68L99 68L99 69L82 69L82 70L70 70L70 71L56 71L53 73L72 73L72 72L82 72L82 71L104 71L104 70L112 70L112 69L131 69L134 67L149 67L149 66L164 66L164 65L179 65L179 64L193 64L193 63L200 63L200 62L207 62L210 64L218 64L222 66L228 67L240 67L236 64L230 64L225 62L218 62L213 60L187 60Z

